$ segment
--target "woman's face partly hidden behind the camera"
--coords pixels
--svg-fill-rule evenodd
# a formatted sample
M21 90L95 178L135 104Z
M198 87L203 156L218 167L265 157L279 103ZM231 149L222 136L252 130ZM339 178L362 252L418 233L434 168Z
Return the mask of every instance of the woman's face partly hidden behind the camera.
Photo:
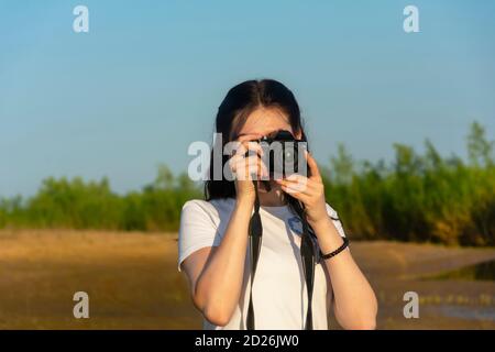
M293 131L288 117L280 110L275 108L257 108L248 117L238 136L249 136L250 140L258 140L279 130L289 131L298 140L301 138L301 132ZM270 185L272 191L277 194L282 193L277 183L271 180ZM260 193L267 193L265 184L261 183L258 190Z

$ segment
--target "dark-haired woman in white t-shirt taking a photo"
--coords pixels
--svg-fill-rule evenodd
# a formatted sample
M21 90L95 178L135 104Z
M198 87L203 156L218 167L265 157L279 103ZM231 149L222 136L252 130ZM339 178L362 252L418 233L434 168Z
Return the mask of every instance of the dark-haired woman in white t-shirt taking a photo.
M219 107L216 130L223 145L229 141L242 145L233 155L223 156L223 164L234 175L248 165L257 176L266 176L263 152L250 141L276 131L288 131L306 141L294 95L270 79L233 87ZM246 156L246 151L252 153ZM331 307L344 329L375 328L375 295L349 250L317 261L312 317L307 317L308 293L299 251L301 217L306 217L320 253L342 248L345 234L336 210L326 204L315 160L309 153L306 157L308 177L270 180L270 187L256 180L263 238L252 292L249 224L256 200L253 180L249 176L229 180L222 175L206 183L206 201L184 206L178 265L188 278L195 306L205 317L205 329L246 329L251 294L255 329L305 329L308 319L312 329L328 329Z

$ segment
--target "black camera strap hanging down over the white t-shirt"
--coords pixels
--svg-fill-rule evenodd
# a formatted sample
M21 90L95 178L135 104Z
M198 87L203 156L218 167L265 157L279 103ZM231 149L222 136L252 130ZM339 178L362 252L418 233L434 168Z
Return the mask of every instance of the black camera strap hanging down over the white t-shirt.
M253 182L255 190L254 212L250 220L249 239L250 239L250 263L251 263L251 289L250 304L248 307L246 328L255 330L254 308L253 308L253 280L256 273L257 260L260 257L261 243L263 237L263 226L260 217L260 198L257 195L257 182ZM300 255L302 260L302 268L306 278L306 288L308 293L308 310L306 314L306 330L312 330L312 288L315 282L315 248L309 233L309 224L306 217L301 217L302 235L300 243Z

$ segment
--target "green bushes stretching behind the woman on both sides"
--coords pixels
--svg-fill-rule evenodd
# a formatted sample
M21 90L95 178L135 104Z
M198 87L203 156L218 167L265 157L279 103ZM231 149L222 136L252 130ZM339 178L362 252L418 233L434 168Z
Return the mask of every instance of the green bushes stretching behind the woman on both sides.
M395 160L355 163L340 145L322 167L326 196L353 239L495 245L494 142L473 123L469 163L394 144ZM0 199L0 228L175 231L189 199L201 198L187 175L165 166L141 191L112 193L107 178L45 179L30 198Z

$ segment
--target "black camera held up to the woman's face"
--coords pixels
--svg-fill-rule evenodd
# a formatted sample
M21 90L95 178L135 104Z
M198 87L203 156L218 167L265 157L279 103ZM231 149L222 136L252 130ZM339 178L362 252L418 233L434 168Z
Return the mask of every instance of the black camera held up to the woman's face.
M270 178L278 179L292 174L307 176L305 150L307 143L296 140L289 131L277 131L271 136L261 139L260 144L264 155L262 157L268 167Z

